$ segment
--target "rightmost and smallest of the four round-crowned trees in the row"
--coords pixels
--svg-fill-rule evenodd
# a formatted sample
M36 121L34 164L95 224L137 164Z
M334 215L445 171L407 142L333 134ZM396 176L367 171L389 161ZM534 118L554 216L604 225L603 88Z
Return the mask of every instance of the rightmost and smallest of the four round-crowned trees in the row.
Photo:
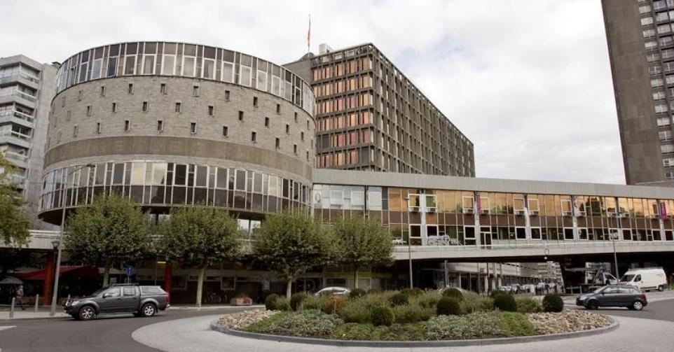
M336 259L353 268L354 288L358 288L358 269L392 264L393 237L376 220L361 216L339 218L332 231L336 241Z

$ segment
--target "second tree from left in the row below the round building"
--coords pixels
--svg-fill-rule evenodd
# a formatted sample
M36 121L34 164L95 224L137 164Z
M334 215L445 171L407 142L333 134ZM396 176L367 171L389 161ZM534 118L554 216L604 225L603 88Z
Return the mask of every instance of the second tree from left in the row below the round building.
M200 269L196 304L201 307L207 267L240 255L242 230L237 220L227 211L189 206L174 208L159 228L160 251L169 260Z

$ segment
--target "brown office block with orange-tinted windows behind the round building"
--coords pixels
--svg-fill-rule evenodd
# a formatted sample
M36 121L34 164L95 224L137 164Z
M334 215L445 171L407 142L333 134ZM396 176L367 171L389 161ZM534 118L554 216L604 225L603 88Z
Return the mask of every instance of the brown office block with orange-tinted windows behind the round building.
M472 142L375 45L284 66L314 90L315 167L475 176Z

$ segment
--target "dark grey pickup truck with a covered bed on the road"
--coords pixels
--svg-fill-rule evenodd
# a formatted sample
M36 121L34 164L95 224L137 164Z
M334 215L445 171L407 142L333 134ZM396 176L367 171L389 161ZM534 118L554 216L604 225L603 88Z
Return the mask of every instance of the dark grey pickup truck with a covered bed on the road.
M79 321L88 321L98 314L133 313L153 316L168 306L167 294L159 286L137 284L111 285L85 297L66 302L64 310Z

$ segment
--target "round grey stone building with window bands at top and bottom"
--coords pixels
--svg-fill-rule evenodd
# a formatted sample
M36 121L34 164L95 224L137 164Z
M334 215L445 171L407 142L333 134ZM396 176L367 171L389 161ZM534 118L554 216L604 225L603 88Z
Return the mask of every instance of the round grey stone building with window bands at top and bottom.
M78 52L63 62L52 101L41 217L60 222L63 185L69 208L119 192L157 214L231 209L251 227L265 213L306 209L313 104L296 74L223 48L138 42Z

